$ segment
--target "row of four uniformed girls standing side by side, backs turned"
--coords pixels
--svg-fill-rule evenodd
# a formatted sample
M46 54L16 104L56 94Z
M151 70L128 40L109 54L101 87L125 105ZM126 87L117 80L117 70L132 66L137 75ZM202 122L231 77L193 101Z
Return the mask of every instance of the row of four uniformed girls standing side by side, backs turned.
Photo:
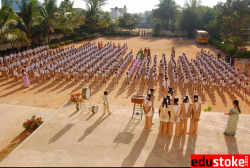
M164 98L159 106L160 126L159 134L179 136L180 134L194 135L198 132L198 122L201 115L201 103L199 97L194 96L194 103L189 103L188 96L185 96L183 103L179 104L179 99L174 98L171 102L169 96ZM187 132L187 124L190 120L190 129ZM175 125L175 130L173 130Z

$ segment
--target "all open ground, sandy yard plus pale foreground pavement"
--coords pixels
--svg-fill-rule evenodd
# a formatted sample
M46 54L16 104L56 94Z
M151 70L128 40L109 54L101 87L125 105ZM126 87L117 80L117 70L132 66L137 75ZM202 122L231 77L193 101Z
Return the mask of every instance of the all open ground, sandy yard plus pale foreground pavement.
M151 35L133 38L101 37L91 42L98 41L103 43L111 41L121 45L127 43L129 48L127 53L133 50L134 57L141 48L150 47L152 56L158 56L158 64L162 53L166 54L168 61L170 60L172 47L176 50L176 60L178 55L186 53L189 61L195 59L196 52L201 48L211 52L216 49L214 46L196 44L193 39L184 39L183 44L180 44L179 39L176 38L156 38ZM74 45L77 47L86 42ZM68 46L71 45L73 44ZM246 59L236 61L236 68L243 71L245 61ZM156 107L162 99L162 78L159 77L159 79L155 94ZM172 79L171 75L170 79ZM154 117L154 131L151 133L143 130L144 119L140 122L130 121L133 105L131 96L137 92L139 95L145 95L152 85L144 87L141 82L140 87L135 88L133 80L130 87L126 87L125 75L120 79L117 87L114 86L112 80L109 80L106 86L95 85L91 82L87 85L83 82L78 84L71 82L68 85L65 82L55 81L36 83L31 80L30 82L31 86L24 88L21 80L16 83L14 79L5 81L0 78L0 116L3 119L0 124L3 130L0 131L0 149L22 132L22 123L32 114L39 114L46 121L41 129L32 133L17 150L0 163L0 166L90 166L91 164L92 166L189 166L187 164L191 153L238 152L242 154L249 152L246 150L249 149L247 139L250 134L250 118L247 114L250 114L250 95L245 98L241 95L242 92L236 95L229 95L228 92L221 95L219 89L215 91L215 94L201 94L199 90L200 102L203 103L202 109L212 105L212 112L203 113L203 121L200 122L197 137L176 138L158 136L157 113ZM101 107L96 115L75 112L74 107L68 105L59 110L60 112L55 112L69 99L71 93L81 92L81 89L86 86L89 86L92 91L90 101L96 104L102 102L103 92L109 91L109 101L113 112L110 117L101 117ZM182 84L179 83L179 86ZM193 97L196 93L191 90L191 87L187 90L180 87L175 94L176 97L182 99L185 95ZM235 138L224 137L222 132L228 117L221 112L228 112L234 99L240 101L243 115L240 115L237 136ZM49 120L54 113L55 115ZM126 133L127 126L135 127L132 133ZM182 162L179 163L178 159L173 158L181 158Z

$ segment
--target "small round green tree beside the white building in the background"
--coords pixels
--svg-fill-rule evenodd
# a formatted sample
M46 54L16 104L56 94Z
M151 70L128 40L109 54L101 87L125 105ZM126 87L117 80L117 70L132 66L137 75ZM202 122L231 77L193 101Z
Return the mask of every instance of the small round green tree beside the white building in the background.
M133 30L136 28L137 24L140 22L140 16L135 14L132 15L130 13L125 13L122 17L118 17L116 20L117 26L126 29L126 30Z

